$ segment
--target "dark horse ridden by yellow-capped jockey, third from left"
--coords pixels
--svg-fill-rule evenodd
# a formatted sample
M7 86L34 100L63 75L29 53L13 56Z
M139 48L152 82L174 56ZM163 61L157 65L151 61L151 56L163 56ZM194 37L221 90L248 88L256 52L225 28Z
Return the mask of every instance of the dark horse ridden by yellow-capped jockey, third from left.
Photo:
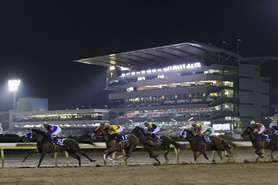
M154 149L162 149L165 150L164 158L165 163L168 164L169 159L167 157L168 153L171 151L171 144L176 148L176 150L179 152L181 146L174 141L171 137L166 135L161 135L161 141L160 142L153 142L151 137L146 134L145 130L142 127L136 126L134 129L132 129L130 134L134 134L136 137L139 137L141 145L145 148L145 150L149 153L150 158L154 158L158 164L160 164L160 161L157 159L157 155L153 154Z

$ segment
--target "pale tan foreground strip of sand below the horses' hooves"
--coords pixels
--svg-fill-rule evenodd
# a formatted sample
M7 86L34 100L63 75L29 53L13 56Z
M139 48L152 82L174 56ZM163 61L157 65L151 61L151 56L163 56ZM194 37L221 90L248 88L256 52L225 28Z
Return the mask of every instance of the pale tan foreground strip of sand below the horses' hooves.
M137 185L218 185L278 184L277 163L190 164L167 166L115 166L69 168L6 168L0 183L7 185L48 184L137 184ZM273 175L270 175L273 174Z

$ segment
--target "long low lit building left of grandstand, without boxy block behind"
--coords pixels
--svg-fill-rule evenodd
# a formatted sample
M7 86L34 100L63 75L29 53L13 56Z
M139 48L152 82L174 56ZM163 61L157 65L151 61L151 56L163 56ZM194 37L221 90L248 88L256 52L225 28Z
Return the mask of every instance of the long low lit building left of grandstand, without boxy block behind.
M10 130L42 128L44 121L59 125L64 135L80 135L109 120L107 109L10 112Z

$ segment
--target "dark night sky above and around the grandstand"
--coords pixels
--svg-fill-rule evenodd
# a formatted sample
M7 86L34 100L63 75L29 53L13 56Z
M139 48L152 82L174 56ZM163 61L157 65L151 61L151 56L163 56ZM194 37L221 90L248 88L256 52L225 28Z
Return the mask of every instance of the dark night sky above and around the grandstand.
M113 2L113 3L112 3ZM171 3L170 3L171 2ZM12 108L7 81L20 78L18 97L49 99L49 109L108 103L105 69L75 59L199 41L246 57L278 56L278 1L0 1L0 111ZM278 65L270 76L278 103Z

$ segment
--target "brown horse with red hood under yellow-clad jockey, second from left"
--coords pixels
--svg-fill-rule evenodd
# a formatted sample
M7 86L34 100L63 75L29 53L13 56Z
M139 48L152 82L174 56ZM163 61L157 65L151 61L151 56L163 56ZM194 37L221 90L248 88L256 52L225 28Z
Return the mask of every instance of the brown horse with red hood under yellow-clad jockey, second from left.
M106 143L107 150L103 153L103 162L106 165L106 159L110 154L115 154L117 151L123 152L123 157L125 164L127 165L127 159L130 157L131 152L139 145L139 138L137 138L133 134L128 134L128 141L127 142L117 142L117 138L114 135L110 135L108 132L108 128L103 129L103 126L99 126L93 132L92 137L96 135L102 135L103 140ZM118 157L119 158L119 157ZM114 164L114 155L113 155L113 164Z

